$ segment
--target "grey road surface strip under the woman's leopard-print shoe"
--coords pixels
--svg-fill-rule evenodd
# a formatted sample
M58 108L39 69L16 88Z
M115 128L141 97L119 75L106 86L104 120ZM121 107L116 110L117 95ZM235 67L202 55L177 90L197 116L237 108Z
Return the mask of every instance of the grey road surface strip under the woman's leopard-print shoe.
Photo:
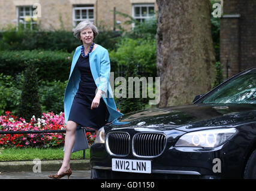
M29 172L0 172L0 179L50 179L48 175L55 174L57 171ZM67 179L65 176L62 179ZM70 179L90 179L91 170L73 170Z

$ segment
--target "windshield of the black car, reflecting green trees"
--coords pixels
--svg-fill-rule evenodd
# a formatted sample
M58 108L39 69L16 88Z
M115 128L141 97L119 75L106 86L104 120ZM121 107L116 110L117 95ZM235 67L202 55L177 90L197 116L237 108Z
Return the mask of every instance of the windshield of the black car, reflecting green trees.
M256 104L256 70L227 82L200 103Z

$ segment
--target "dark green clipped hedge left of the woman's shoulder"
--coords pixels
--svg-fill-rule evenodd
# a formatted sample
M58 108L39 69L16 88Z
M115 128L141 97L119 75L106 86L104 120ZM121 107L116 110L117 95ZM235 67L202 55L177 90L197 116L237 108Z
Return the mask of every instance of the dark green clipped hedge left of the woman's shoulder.
M44 81L66 81L70 73L73 53L61 51L0 51L0 73L16 76L25 69L25 61L30 60L38 68L38 79Z

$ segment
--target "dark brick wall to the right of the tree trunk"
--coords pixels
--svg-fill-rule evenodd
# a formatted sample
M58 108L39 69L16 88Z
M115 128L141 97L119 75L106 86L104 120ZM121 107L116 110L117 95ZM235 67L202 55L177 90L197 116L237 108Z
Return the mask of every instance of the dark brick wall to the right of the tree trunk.
M256 66L256 0L224 0L220 35L225 76Z

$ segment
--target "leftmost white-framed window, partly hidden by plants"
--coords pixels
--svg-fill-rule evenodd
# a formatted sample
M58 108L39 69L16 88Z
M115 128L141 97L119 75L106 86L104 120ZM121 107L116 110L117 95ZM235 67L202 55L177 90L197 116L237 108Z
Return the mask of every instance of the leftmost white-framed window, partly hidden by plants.
M17 25L22 29L35 29L37 26L37 17L33 16L35 9L32 6L17 7Z

